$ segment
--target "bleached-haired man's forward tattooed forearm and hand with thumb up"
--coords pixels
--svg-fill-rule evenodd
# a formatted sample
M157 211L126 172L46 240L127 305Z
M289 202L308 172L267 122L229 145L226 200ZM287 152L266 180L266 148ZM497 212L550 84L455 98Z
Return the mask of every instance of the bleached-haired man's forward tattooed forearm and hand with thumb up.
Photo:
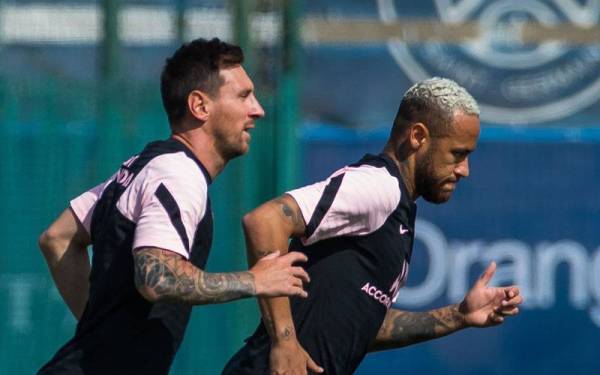
M388 310L370 351L401 348L446 336L467 327L490 327L519 313L519 288L489 287L496 270L492 262L460 304L428 312Z

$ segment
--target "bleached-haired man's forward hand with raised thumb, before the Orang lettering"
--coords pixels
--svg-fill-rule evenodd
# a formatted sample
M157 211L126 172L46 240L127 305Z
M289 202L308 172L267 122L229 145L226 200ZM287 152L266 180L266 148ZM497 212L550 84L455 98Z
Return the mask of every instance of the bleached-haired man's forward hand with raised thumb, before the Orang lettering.
M517 307L523 302L516 286L492 288L488 283L496 272L496 263L492 262L475 282L460 304L459 311L465 323L472 327L489 327L501 324L507 316L519 313Z

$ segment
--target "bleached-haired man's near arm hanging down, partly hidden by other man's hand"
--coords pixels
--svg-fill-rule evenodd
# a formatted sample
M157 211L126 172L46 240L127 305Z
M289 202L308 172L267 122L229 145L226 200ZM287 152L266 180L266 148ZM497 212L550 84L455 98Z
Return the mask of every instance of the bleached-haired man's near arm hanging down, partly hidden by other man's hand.
M289 195L269 201L244 216L248 260L254 264L272 251L287 251L290 237L304 235L306 226L298 204ZM272 373L320 373L322 369L298 343L288 298L260 298L263 323L271 337Z

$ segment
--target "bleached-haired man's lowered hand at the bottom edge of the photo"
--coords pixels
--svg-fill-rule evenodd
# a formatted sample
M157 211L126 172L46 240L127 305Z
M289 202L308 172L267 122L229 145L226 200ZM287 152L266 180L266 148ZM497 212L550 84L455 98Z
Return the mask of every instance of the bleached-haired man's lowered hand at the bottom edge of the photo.
M273 343L270 357L271 375L321 374L323 369L308 355L295 338Z

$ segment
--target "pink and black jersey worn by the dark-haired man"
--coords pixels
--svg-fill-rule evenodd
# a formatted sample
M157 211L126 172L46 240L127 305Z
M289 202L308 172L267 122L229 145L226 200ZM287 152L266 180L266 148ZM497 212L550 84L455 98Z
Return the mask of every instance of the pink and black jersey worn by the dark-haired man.
M71 201L92 239L90 294L75 336L40 374L166 374L191 306L137 291L132 252L156 247L204 268L212 242L210 175L182 143L150 143Z

